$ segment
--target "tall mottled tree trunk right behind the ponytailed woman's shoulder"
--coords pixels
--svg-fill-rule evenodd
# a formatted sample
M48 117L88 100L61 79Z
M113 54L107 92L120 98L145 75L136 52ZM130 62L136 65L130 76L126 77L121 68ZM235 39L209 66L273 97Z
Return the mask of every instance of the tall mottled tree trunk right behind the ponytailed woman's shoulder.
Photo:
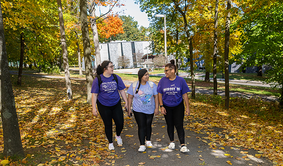
M86 78L86 90L87 90L87 101L86 103L91 104L91 85L93 82L92 65L91 65L91 50L88 32L88 21L87 21L87 0L80 0L80 17L81 17L81 34L83 42L83 54L84 54L84 65L85 65L85 78Z

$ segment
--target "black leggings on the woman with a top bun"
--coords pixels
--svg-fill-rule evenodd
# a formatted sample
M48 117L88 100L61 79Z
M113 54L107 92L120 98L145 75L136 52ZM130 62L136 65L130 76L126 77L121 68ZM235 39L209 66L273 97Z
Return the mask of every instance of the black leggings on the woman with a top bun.
M181 145L185 143L185 131L183 127L184 122L184 103L183 101L181 104L177 106L166 106L163 105L166 109L166 115L164 115L166 124L167 124L167 133L169 136L170 141L174 141L174 126L176 127L178 137L180 140Z

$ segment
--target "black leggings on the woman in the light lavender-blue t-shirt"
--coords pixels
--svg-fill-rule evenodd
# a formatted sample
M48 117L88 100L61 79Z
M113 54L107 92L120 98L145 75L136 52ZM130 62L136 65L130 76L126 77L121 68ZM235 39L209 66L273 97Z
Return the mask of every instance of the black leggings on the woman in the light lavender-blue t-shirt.
M150 141L151 137L151 124L154 114L145 114L142 112L134 111L135 119L138 124L138 133L141 145L145 145L145 137L147 141Z

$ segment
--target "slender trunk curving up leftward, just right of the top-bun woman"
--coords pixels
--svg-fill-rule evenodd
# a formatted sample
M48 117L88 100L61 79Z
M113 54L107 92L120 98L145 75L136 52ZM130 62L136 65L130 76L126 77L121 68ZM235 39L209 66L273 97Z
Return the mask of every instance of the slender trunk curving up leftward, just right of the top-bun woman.
M192 38L190 36L190 31L188 28L188 23L187 23L187 19L186 19L186 15L185 13L182 11L182 9L180 8L179 4L177 3L176 0L173 0L177 10L179 11L179 13L182 15L183 20L184 20L184 29L187 35L187 40L189 42L189 51L190 51L190 66L191 66L191 78L192 78L192 99L196 98L196 87L195 87L195 73L194 73L194 62L193 62L193 43L192 43Z

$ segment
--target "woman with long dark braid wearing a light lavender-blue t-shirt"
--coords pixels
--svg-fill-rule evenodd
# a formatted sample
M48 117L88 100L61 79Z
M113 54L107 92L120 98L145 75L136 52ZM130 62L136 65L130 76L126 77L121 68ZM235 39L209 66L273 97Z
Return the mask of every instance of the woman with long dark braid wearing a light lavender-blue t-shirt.
M140 69L138 72L139 81L132 83L127 91L128 93L128 116L131 117L130 110L133 102L133 112L138 124L138 134L140 139L139 152L143 152L147 147L152 146L151 124L154 115L159 114L158 96L156 84L148 81L149 75L146 69Z

